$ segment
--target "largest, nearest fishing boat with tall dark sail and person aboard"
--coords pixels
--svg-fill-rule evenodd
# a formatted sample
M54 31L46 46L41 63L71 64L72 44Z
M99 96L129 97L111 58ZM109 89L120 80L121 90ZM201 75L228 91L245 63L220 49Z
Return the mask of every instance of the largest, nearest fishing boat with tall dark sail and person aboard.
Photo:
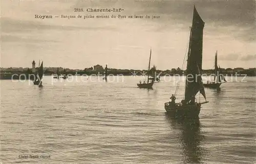
M187 53L185 99L180 103L175 103L175 96L179 89L178 83L175 95L171 97L173 99L172 102L164 103L166 112L172 114L176 118L197 118L201 110L201 105L208 102L206 101L206 95L201 77L203 28L204 21L201 19L196 7L194 6L193 22L190 28L189 48ZM185 60L183 61L183 65L184 62ZM205 102L201 103L196 101L196 95L198 92L203 95Z

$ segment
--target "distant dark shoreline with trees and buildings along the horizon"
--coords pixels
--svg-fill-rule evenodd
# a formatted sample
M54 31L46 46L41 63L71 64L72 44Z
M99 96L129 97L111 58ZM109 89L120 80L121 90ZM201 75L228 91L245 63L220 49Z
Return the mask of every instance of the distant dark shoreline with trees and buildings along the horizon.
M154 66L155 67L155 66ZM0 68L0 79L33 79L35 77L31 68ZM38 67L34 68L36 71ZM69 75L85 75L85 76L103 76L105 70L102 66L96 65L90 68L84 68L84 70L74 70L74 69L64 69L62 67L44 67L44 75L45 76L55 76L57 75L57 70L59 74L69 74ZM148 70L134 70L134 69L115 69L108 68L107 74L110 76L147 76ZM156 70L154 72L150 71L150 75L154 76L185 76L186 71L181 70L180 68L172 68L171 70ZM213 75L214 70L202 70L203 76ZM218 74L222 74L224 76L256 76L256 68L227 68L220 69ZM33 76L33 77L32 77Z

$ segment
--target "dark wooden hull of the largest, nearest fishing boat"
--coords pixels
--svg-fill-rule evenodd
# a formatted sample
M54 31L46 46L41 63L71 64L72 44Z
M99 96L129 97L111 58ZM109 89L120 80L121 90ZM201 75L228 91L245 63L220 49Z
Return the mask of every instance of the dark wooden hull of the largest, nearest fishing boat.
M201 110L201 104L172 105L169 102L166 102L164 103L164 108L168 114L175 118L198 118Z

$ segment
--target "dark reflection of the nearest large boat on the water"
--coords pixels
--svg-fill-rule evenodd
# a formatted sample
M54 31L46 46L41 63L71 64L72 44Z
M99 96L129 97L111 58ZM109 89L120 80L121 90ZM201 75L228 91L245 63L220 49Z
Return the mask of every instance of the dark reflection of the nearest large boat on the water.
M179 130L178 142L182 148L183 162L202 163L206 150L201 147L205 136L201 132L199 119L179 120L166 114L166 120L173 129Z

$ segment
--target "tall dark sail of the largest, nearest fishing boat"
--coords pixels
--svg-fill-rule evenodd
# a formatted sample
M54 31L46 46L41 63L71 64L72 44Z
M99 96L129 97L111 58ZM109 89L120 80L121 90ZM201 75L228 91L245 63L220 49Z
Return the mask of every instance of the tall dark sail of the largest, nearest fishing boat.
M187 78L185 88L185 100L189 101L199 91L205 97L202 83L202 53L203 53L203 29L204 21L198 14L194 6L193 22L190 33L188 59L187 59Z

